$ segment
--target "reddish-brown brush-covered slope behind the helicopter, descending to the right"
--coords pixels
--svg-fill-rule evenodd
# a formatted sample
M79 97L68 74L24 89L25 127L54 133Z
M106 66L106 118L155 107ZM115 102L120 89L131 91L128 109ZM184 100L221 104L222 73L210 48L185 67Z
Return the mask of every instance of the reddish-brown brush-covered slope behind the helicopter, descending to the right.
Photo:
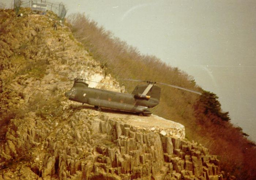
M128 92L137 83L121 81L121 78L157 81L203 91L185 72L167 66L157 57L140 54L84 15L77 14L69 20L74 37L101 62L107 73L125 85ZM218 154L223 170L233 173L237 179L256 179L255 144L244 137L240 128L215 114L206 113L199 95L162 87L161 103L153 113L185 125L187 138L203 143L211 153Z

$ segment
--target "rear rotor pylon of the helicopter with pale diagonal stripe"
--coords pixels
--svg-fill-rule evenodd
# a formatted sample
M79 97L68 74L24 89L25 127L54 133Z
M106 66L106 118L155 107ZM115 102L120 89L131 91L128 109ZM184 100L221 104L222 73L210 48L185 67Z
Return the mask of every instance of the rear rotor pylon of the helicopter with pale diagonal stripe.
M132 94L134 94L135 97L138 97L138 98L143 98L143 99L154 98L159 101L161 88L154 84L137 85L133 90Z

